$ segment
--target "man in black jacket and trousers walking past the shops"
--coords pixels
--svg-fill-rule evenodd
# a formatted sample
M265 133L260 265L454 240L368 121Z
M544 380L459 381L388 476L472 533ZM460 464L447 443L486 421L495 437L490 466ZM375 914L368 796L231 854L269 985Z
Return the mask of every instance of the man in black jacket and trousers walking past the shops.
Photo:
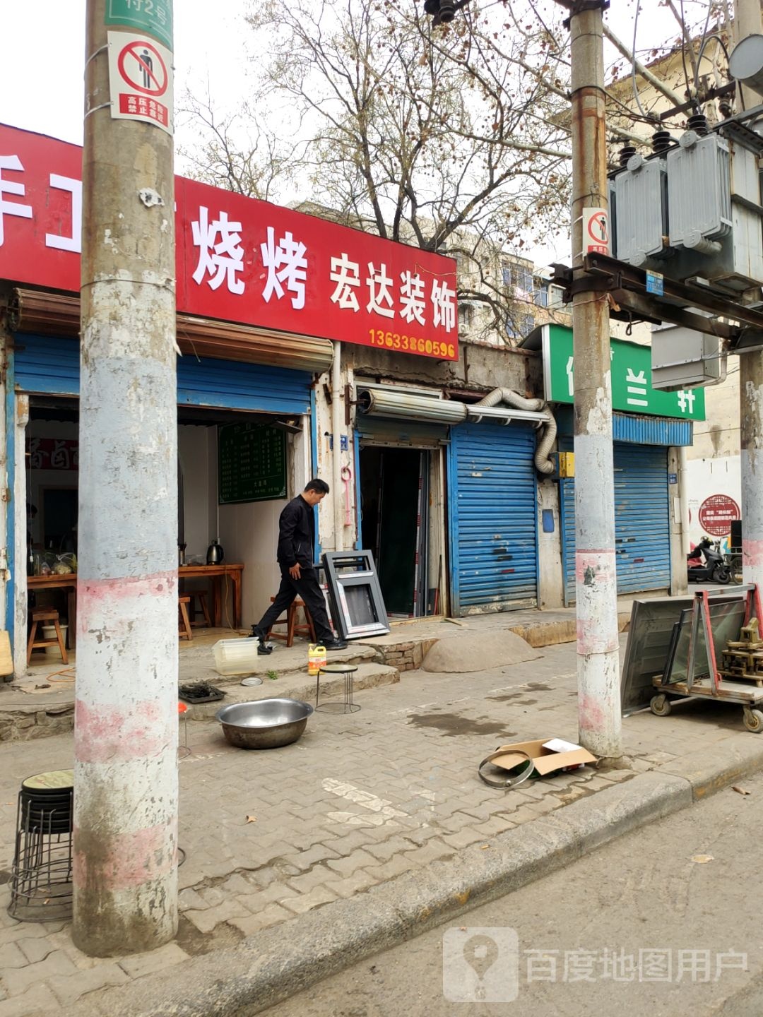
M276 599L251 635L259 640L258 653L270 653L265 641L271 626L288 609L295 597L301 597L310 612L315 636L327 650L344 650L347 646L334 638L326 601L317 581L313 557L315 554L314 506L329 493L325 480L310 480L301 494L292 498L278 521L278 563L281 567L281 586Z

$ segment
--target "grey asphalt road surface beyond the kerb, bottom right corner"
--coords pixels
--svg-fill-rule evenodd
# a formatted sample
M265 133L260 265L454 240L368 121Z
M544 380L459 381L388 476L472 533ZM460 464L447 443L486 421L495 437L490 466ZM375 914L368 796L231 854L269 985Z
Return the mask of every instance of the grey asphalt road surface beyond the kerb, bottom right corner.
M739 786L267 1015L760 1017L763 775Z

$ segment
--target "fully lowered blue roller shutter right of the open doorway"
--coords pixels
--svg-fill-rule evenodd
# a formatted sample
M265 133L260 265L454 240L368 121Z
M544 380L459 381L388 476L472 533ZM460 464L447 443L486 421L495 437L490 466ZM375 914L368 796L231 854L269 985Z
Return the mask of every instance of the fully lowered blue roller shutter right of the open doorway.
M451 428L451 606L456 615L537 604L534 455L531 427Z

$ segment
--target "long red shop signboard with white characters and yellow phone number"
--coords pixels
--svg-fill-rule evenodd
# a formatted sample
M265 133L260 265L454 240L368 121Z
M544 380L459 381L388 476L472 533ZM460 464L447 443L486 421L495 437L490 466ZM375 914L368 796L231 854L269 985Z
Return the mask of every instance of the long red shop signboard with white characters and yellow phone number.
M82 151L0 124L0 279L79 292ZM175 178L177 309L458 360L456 262Z

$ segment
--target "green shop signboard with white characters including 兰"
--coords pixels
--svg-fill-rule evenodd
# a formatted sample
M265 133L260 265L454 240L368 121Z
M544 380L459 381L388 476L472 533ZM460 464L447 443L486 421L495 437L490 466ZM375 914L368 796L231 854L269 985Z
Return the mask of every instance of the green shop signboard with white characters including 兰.
M612 379L612 409L679 420L705 419L705 393L702 388L661 392L652 388L652 350L650 346L609 340ZM543 381L549 403L575 401L575 358L572 328L543 326Z

